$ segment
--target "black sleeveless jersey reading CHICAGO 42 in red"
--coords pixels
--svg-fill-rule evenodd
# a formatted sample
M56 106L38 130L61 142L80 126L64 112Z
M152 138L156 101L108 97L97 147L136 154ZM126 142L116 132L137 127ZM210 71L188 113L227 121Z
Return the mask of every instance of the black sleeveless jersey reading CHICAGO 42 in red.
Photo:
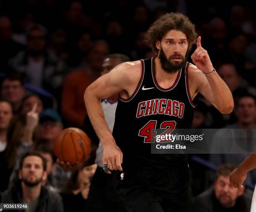
M169 168L186 160L184 154L151 154L152 129L191 128L195 105L189 94L187 69L179 70L168 89L161 88L154 72L154 57L141 60L138 86L127 100L119 98L113 137L123 152L123 170Z

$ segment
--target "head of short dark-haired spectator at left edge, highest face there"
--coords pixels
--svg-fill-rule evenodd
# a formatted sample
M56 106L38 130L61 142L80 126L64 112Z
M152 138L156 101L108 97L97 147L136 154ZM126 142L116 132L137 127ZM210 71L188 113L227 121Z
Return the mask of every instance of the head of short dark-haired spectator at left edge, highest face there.
M8 74L4 77L1 87L1 97L10 102L14 114L16 114L20 108L25 91L22 75Z

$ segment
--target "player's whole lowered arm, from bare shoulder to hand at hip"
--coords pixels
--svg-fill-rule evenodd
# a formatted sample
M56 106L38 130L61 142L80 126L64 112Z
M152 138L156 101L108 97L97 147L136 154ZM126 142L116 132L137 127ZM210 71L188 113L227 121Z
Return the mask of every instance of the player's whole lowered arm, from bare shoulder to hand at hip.
M116 93L129 97L133 90L136 89L137 81L140 78L138 75L141 75L141 65L139 66L138 62L125 62L118 65L108 74L98 78L84 92L87 113L104 148L103 164L108 164L110 170L123 170L121 166L123 153L116 145L112 133L105 122L100 100Z

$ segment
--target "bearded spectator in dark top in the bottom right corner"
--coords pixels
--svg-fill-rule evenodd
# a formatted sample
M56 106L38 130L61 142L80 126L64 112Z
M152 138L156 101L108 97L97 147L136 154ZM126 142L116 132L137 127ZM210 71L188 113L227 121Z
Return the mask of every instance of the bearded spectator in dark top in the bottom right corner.
M213 188L195 198L195 212L250 212L251 196L229 182L229 175L235 165L223 164L216 173Z

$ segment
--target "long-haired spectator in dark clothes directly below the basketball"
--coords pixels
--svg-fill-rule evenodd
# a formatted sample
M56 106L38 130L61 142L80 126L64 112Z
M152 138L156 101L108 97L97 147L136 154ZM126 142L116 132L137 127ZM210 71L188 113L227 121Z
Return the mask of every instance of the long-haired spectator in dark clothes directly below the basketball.
M93 164L72 172L69 182L61 193L64 211L87 211L86 200L90 190L90 178L94 175L97 165Z

